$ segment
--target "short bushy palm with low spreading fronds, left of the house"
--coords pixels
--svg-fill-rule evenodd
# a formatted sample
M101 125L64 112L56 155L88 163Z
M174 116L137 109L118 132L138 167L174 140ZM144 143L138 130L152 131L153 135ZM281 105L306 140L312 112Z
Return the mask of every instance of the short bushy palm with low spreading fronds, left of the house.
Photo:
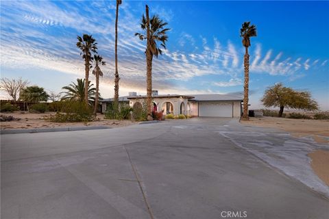
M85 101L84 86L85 79L77 79L77 83L72 82L69 86L62 87L63 91L61 94L64 94L62 101ZM96 88L93 88L93 83L90 84L88 81L88 104L92 105L95 101Z

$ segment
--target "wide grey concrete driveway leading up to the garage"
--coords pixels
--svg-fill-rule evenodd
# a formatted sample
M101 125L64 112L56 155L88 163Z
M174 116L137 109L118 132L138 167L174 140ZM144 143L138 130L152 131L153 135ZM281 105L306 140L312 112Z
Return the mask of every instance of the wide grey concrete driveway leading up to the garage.
M295 168L321 147L230 118L1 135L1 218L328 218Z

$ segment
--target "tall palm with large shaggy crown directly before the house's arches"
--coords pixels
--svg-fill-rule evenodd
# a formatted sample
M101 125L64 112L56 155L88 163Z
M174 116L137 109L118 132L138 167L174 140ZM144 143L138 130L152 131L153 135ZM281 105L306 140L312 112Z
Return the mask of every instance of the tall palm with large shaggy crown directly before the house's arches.
M149 7L145 5L146 8L146 18L143 14L141 28L146 30L145 34L136 33L135 36L138 36L141 40L147 40L146 48L146 65L147 65L147 114L151 115L151 94L152 94L152 60L153 56L158 57L162 54L160 47L166 49L166 41L168 40L167 31L169 28L164 28L168 23L163 22L158 15L152 16L151 20L149 19ZM160 42L160 47L158 47L157 42Z

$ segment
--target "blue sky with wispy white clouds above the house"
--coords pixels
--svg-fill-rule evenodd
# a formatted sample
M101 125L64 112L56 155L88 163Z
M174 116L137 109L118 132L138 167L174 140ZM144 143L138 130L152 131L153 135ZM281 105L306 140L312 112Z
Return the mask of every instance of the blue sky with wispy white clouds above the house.
M106 66L103 98L114 96L115 1L0 1L1 77L61 92L84 77L77 36L92 34ZM282 82L311 92L329 110L329 1L125 1L119 8L120 96L146 93L145 4L171 29L167 49L153 64L159 94L242 94L241 24L256 25L251 38L249 103L263 108L264 91ZM90 79L95 83L95 77ZM8 98L1 92L1 98Z

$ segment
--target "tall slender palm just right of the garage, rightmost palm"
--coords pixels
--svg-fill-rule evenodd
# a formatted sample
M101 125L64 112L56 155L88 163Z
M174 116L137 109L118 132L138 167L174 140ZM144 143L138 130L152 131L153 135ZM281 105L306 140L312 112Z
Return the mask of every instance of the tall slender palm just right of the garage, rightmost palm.
M248 47L251 46L250 38L257 36L256 26L250 25L250 22L243 23L240 29L240 36L242 37L242 44L245 47L245 86L244 86L244 96L243 96L243 120L249 120L248 116L248 101L249 101L249 54Z

